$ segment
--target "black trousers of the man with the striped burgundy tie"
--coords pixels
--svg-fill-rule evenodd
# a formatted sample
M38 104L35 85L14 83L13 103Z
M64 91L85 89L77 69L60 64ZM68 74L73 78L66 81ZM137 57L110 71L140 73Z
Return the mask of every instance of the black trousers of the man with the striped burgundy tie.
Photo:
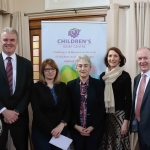
M8 131L13 140L16 150L28 150L28 123L25 121L17 120L15 123L6 124L2 121L3 131L0 136L0 150L6 150L6 143L8 140Z

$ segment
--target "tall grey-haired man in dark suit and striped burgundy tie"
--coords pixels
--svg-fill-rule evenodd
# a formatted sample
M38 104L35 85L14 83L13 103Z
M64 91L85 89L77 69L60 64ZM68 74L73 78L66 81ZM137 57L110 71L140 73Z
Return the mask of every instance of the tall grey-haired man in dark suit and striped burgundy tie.
M18 45L18 33L15 29L3 29L0 43L0 119L3 127L0 149L6 149L10 131L16 150L28 150L28 104L33 84L32 65L29 60L15 54Z

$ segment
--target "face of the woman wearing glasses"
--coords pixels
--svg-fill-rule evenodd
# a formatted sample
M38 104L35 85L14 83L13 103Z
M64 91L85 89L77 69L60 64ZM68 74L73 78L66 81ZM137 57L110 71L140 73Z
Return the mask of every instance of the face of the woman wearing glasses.
M44 68L45 80L54 80L56 76L56 69L52 68L50 65L46 65Z

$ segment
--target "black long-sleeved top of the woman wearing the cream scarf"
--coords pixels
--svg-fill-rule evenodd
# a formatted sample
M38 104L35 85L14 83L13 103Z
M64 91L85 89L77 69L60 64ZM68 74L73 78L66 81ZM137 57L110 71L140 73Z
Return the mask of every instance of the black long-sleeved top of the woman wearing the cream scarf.
M105 72L100 75L100 79L102 79L104 75ZM115 99L115 110L124 110L124 119L129 120L132 105L131 78L129 73L123 71L116 81L112 83L112 88Z

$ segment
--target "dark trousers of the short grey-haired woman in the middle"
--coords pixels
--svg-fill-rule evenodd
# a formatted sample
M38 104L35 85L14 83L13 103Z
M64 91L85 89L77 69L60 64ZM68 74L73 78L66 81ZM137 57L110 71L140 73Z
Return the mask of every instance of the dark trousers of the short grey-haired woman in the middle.
M102 133L91 132L90 136L82 136L78 131L71 131L71 138L73 139L74 150L98 150Z

